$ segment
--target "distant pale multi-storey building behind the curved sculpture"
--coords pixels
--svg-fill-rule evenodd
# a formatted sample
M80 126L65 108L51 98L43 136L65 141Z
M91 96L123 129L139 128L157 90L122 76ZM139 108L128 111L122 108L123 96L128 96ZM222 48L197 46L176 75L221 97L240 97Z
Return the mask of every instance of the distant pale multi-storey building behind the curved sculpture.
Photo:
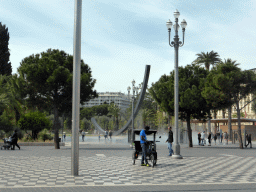
M111 104L114 102L122 111L125 111L131 104L130 97L121 92L99 92L98 95L98 98L91 99L83 107L93 107L95 105Z

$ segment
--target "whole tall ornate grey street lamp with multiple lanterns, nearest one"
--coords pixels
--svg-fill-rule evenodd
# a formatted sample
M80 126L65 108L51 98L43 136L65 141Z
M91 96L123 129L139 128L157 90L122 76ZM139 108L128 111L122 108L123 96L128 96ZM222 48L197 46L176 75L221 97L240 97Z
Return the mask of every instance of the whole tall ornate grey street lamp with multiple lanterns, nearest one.
M178 18L180 16L179 11L176 9L174 12L174 18L175 18L175 24L173 25L174 31L175 31L175 36L174 36L174 41L170 42L171 38L171 28L172 28L172 22L169 19L169 21L166 22L166 26L169 32L169 45L171 47L174 47L175 53L174 53L174 63L175 63L175 85L174 85L174 90L175 90L175 102L174 102L174 113L175 113L175 134L174 134L174 145L173 145L173 152L174 155L172 156L174 159L182 159L182 156L180 155L180 144L178 142L178 113L179 113L179 72L178 72L178 53L179 53L179 47L182 47L184 45L184 36L185 36L185 28L187 26L187 22L185 19L181 22L181 27L182 27L182 32L183 32L183 41L179 41L179 35L178 35L178 30L180 28L178 24Z

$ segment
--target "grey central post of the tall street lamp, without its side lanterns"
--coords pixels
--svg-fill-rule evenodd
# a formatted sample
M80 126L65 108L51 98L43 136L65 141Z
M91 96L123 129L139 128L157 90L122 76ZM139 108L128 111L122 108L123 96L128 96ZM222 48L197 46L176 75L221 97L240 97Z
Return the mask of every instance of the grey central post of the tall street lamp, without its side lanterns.
M178 18L175 19L176 26L178 26ZM173 152L174 155L172 156L174 159L182 159L182 156L180 155L180 144L179 144L179 70L178 70L178 63L179 63L179 36L178 36L178 30L175 29L175 37L174 37L174 63L175 63L175 85L174 85L174 115L175 115L175 135L174 135L174 145L173 145Z

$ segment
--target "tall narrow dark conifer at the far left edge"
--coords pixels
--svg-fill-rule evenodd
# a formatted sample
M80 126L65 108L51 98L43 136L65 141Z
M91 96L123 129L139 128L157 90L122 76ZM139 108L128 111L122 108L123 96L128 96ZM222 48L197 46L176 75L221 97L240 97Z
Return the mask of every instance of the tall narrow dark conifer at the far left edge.
M12 66L9 61L10 52L8 49L9 33L8 28L0 22L0 75L11 75Z

